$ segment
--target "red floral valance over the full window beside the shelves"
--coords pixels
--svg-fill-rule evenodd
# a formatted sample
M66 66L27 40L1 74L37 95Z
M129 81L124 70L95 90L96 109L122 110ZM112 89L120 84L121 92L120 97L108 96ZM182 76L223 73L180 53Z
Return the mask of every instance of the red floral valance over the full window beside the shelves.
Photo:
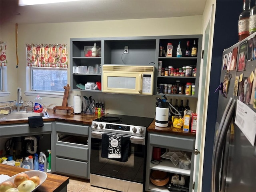
M30 67L68 67L66 44L26 44Z

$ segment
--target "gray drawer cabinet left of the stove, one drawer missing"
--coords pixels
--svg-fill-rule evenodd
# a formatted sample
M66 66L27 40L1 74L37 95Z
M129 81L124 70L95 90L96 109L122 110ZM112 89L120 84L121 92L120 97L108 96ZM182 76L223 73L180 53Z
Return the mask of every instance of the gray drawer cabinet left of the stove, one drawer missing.
M89 179L89 126L56 122L56 172Z

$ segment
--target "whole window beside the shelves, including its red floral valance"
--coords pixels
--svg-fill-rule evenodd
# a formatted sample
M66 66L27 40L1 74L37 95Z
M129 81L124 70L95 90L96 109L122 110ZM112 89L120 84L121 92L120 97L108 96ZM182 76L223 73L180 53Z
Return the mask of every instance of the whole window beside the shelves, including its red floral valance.
M26 44L26 47L30 91L64 92L63 87L68 83L66 44Z

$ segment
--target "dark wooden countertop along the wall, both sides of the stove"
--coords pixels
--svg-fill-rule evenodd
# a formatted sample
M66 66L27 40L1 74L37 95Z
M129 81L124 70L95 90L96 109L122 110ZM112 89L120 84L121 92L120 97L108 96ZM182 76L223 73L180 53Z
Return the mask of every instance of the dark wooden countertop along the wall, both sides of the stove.
M91 125L92 121L96 118L100 118L103 115L98 116L98 114L70 114L67 110L56 110L55 113L52 112L52 109L48 109L49 118L45 118L44 122L47 121L60 121L67 123L78 123L84 125ZM5 124L18 124L18 123L28 123L28 120L6 120L0 121L0 125ZM196 136L195 133L185 132L183 129L172 128L171 123L168 127L158 127L155 126L155 120L152 121L150 126L147 128L148 132L158 132L158 133L169 133L183 136Z

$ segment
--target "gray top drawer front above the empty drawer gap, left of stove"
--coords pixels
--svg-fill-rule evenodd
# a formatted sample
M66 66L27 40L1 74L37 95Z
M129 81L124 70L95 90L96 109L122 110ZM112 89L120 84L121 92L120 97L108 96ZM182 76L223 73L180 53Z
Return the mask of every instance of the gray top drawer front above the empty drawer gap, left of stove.
M57 132L88 135L89 126L56 122Z

